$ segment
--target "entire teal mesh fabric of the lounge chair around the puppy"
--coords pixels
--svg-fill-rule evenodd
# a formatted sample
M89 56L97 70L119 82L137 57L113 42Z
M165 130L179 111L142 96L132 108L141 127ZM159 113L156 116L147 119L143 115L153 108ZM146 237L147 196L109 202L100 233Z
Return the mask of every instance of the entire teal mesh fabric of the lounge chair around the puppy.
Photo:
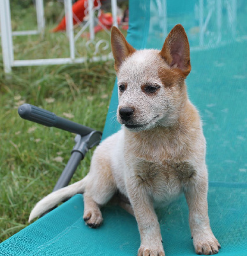
M209 169L209 218L221 243L219 255L247 255L247 1L130 1L128 41L137 49L161 48L183 24L191 46L188 94L204 122ZM119 129L116 86L103 138ZM119 207L103 208L103 226L82 220L74 196L0 244L1 255L136 255L135 218ZM195 255L188 207L182 196L158 209L165 253Z

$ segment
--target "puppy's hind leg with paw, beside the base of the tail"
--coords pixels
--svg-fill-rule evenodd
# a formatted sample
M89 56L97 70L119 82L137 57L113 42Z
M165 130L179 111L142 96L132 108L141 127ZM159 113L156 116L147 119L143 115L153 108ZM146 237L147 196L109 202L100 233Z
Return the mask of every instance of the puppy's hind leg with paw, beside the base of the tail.
M103 222L100 206L107 204L116 193L116 184L112 176L109 159L94 153L88 182L84 193L84 221L91 228L97 228Z

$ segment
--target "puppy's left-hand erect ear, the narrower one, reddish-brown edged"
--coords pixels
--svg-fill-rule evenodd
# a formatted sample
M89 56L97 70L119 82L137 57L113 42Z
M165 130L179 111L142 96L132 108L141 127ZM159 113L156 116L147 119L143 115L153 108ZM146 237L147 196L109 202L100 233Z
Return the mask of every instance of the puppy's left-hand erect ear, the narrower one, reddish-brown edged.
M123 34L116 27L112 27L112 53L115 59L115 70L118 72L119 67L124 59L135 52L135 49L126 41Z

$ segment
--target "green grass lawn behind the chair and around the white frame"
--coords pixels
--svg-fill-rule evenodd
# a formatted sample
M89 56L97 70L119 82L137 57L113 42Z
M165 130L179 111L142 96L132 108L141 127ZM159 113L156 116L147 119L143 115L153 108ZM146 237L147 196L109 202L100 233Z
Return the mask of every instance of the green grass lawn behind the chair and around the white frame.
M23 19L25 16L21 22L25 29ZM28 24L26 29L30 29ZM51 35L49 29L45 38L15 38L15 59L66 54L65 35ZM114 79L113 61L19 67L4 76L0 55L0 241L28 225L32 207L52 191L74 145L74 134L23 120L18 106L34 104L102 131ZM71 182L86 175L92 152L87 153Z

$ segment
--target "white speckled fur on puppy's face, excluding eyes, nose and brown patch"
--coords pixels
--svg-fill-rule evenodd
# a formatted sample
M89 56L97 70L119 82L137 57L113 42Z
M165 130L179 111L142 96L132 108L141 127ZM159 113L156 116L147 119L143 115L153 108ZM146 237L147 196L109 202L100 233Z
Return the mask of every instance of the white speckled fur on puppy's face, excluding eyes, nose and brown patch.
M137 115L135 116L135 122L137 124L149 123L146 129L158 124L170 126L176 122L180 102L179 104L174 102L176 98L172 97L171 94L176 93L176 91L172 92L172 88L165 88L158 76L160 68L169 68L165 61L160 61L159 52L154 49L134 52L121 65L117 74L117 83L126 83L128 86L126 92L119 95L117 119L120 123L122 120L119 117L119 108L122 106L134 106ZM155 100L153 97L142 93L140 85L145 83L160 86L160 92ZM159 115L158 118L153 120L157 115ZM150 120L153 121L149 122Z

